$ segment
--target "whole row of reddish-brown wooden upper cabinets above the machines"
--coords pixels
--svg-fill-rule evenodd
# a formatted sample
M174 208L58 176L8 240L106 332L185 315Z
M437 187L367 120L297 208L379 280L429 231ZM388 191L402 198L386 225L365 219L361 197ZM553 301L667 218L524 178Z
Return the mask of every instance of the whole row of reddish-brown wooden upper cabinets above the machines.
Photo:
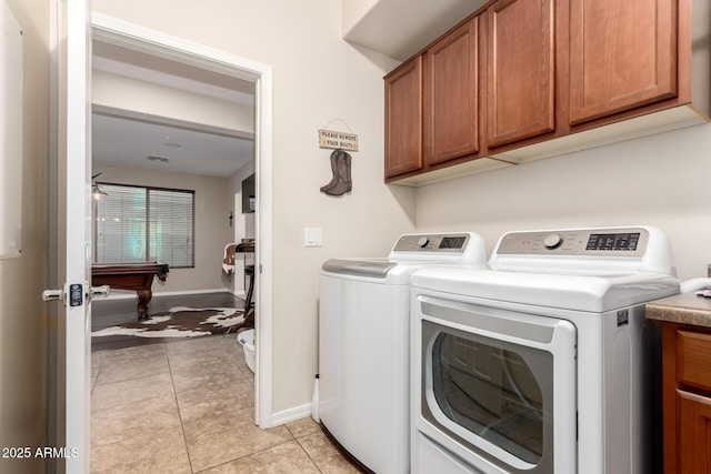
M385 75L385 180L711 121L709 18L709 0L490 0Z

